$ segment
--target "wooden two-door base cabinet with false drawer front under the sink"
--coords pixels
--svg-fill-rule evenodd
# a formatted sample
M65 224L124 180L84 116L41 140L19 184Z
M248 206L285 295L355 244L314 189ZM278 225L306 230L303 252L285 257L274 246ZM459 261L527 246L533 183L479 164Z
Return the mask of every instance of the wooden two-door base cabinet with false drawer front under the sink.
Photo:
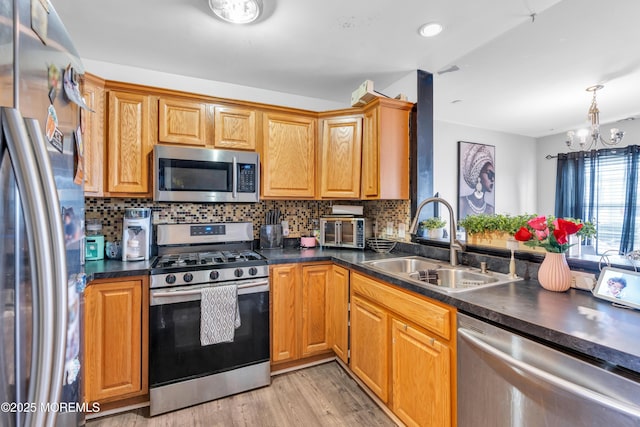
M455 309L351 273L350 368L408 426L455 425Z

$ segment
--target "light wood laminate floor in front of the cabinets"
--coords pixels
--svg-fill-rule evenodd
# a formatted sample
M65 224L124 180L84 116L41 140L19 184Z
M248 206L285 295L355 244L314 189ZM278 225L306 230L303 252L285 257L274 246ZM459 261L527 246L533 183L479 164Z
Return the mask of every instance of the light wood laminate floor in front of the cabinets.
M148 408L87 421L88 427L395 426L336 363L272 378L271 386L148 417Z

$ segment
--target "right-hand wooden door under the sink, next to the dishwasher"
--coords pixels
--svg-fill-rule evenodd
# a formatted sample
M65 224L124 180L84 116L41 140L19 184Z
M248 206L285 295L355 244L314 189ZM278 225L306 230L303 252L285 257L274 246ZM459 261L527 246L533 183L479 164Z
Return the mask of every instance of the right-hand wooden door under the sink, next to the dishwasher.
M450 426L449 347L397 319L391 334L393 412L408 426Z

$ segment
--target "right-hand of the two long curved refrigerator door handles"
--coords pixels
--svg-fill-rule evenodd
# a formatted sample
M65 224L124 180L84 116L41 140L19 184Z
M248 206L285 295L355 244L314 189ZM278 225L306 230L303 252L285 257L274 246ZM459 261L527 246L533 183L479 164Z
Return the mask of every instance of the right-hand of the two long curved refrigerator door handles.
M47 145L43 138L40 124L36 119L25 119L27 132L32 142L35 152L36 164L40 171L40 180L43 189L45 203L45 220L51 233L51 260L52 274L50 287L54 292L54 322L53 336L58 337L53 341L53 363L51 373L51 391L48 402L60 402L62 393L62 384L64 382L65 363L66 363L66 337L67 337L67 251L65 248L64 230L62 228L62 213L60 212L60 202L58 199L58 190L53 175L53 168L49 153L47 153ZM55 414L55 413L54 413ZM53 426L55 417L49 416L47 425Z

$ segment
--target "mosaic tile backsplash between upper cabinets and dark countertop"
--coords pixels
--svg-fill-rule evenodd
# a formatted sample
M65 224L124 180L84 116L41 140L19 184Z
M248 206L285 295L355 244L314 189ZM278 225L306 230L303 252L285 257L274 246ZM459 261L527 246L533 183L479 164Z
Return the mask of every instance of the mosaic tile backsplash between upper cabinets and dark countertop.
M153 224L207 223L207 222L253 222L254 238L259 237L260 225L264 224L265 212L279 209L289 221L290 237L308 235L313 229L313 220L330 214L334 204L362 205L364 216L374 220L378 235L392 225L393 233L398 225L409 228L409 200L371 200L361 202L324 200L263 200L258 203L162 203L151 199L96 198L85 199L85 218L100 219L102 233L107 241L122 239L122 218L126 208L151 208Z

